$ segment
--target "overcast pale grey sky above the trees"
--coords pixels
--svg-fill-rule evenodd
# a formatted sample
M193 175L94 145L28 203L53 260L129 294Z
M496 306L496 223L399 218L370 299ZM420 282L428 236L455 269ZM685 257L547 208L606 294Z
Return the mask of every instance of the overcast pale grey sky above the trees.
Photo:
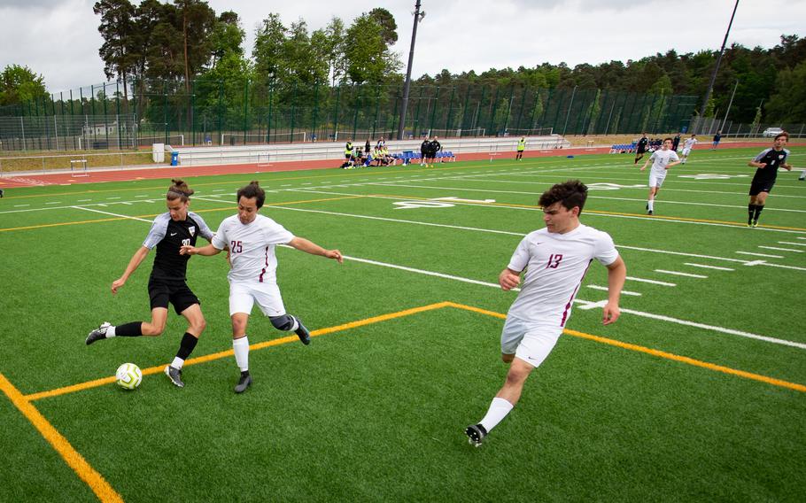
M18 64L42 74L50 92L105 81L94 0L0 0L0 67ZM133 0L137 3L137 0ZM251 54L255 27L269 12L313 31L333 16L349 25L361 12L388 9L398 23L393 48L408 58L415 0L271 2L209 0L233 10ZM718 50L734 0L422 0L413 76L565 61L573 67L638 59L675 49ZM781 34L806 36L806 0L740 0L728 43L770 48Z

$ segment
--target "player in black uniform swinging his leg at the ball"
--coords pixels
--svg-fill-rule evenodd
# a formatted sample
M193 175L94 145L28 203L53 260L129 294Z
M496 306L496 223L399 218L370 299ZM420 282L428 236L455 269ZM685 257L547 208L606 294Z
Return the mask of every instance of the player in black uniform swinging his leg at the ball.
M148 281L151 321L132 321L122 325L112 325L106 321L89 332L85 342L89 345L112 337L159 336L165 331L168 304L173 304L174 311L182 314L188 321L188 329L182 336L174 361L167 365L165 373L171 383L183 388L185 384L182 382L182 365L196 347L198 337L205 330L206 322L198 297L187 283L186 271L190 257L182 257L179 251L182 246L196 244L198 236L212 241L213 232L198 214L188 210L190 196L193 194L188 184L182 180L171 182L166 195L167 213L162 213L154 219L143 246L135 251L123 275L112 282L112 293L116 294L118 289L126 284L129 276L134 274L149 251L156 247L157 254Z

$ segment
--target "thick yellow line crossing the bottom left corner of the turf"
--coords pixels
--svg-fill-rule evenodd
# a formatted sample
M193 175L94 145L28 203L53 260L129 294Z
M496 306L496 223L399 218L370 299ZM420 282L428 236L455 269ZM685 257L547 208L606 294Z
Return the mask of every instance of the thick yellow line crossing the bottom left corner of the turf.
M67 439L58 432L58 429L55 429L36 407L31 405L30 400L23 397L22 393L2 373L0 373L0 390L3 390L5 395L12 401L12 404L19 409L19 412L25 415L26 419L39 430L45 440L65 460L67 466L73 468L75 474L85 484L89 485L89 489L95 492L98 499L103 502L123 501L120 494L112 489L106 479L89 465L87 460L74 449L73 445L70 445Z

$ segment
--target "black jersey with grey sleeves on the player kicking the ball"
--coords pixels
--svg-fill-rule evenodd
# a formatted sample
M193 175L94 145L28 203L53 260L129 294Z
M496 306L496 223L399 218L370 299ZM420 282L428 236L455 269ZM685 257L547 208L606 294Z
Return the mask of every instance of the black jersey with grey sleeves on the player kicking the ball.
M174 221L171 213L162 213L154 219L143 241L146 248L157 248L151 277L184 281L190 255L180 255L179 249L183 244L196 246L199 235L207 241L213 239L213 232L196 213L188 212L184 221Z

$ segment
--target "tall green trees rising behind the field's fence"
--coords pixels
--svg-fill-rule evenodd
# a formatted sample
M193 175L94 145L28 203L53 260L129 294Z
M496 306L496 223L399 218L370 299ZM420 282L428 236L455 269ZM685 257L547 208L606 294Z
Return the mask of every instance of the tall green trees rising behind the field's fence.
M391 51L398 39L397 23L383 8L362 13L349 26L333 17L326 27L313 31L304 19L286 25L278 14L268 14L256 28L251 55L244 51L245 32L237 13L216 14L203 0L174 0L172 4L143 0L138 5L129 0L98 0L93 10L104 39L99 55L105 75L122 82L124 99L128 89L149 92L149 81L170 82L172 92L183 89L186 95L194 81L216 82L216 89L224 89L207 93L206 98L200 95L201 105L207 99L213 106L222 99L232 104L244 99L240 97L244 81L257 86L260 96L272 94L269 88L277 91L272 96L282 102L288 96L315 99L319 87L397 86L403 80L399 55ZM440 87L576 87L702 97L716 60L714 50L686 54L669 50L637 61L573 68L543 63L491 68L480 74L452 74L444 69L433 76L422 75L416 82ZM42 76L26 66L7 66L0 74L0 105L43 96L47 92ZM732 44L725 50L705 115L722 116L731 97L732 120L806 122L806 39L781 35L780 43L771 49Z

